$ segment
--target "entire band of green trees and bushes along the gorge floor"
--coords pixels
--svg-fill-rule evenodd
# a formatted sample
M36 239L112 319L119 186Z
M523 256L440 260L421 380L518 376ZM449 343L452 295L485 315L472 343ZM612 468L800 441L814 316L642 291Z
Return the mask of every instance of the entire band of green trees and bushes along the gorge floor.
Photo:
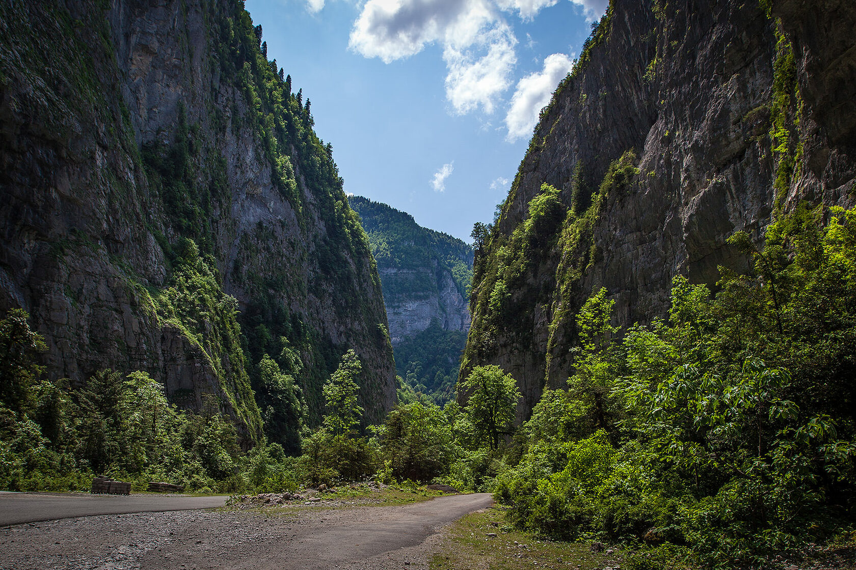
M360 358L348 351L299 458L277 444L245 453L217 403L181 412L145 373L104 371L76 390L42 379L33 359L44 344L12 311L0 321L0 483L78 488L94 473L221 491L443 482L494 489L515 524L550 537L756 567L856 522L856 209L825 212L825 228L822 214L781 216L763 250L736 234L754 272L723 270L716 295L676 277L668 320L619 331L607 291L592 295L575 317L567 388L545 391L517 432L520 393L495 366L462 382L463 407L408 391L363 430ZM265 370L300 408L272 359Z

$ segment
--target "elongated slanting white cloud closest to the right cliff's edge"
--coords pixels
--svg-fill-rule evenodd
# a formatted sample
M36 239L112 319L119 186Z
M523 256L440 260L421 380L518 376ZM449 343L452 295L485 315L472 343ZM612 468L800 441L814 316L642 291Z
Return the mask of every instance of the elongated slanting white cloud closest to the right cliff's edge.
M517 83L517 89L511 97L511 108L505 115L508 127L508 140L527 138L532 127L538 122L538 114L544 105L550 103L550 97L574 63L565 54L553 54L544 60L544 69L526 75Z

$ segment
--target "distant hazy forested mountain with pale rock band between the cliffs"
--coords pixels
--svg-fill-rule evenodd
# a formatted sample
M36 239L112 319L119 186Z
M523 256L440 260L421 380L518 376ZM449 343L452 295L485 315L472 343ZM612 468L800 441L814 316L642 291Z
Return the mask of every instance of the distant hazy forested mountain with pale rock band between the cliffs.
M465 300L473 248L386 204L364 197L349 201L377 260L396 370L415 390L437 394L442 403L455 392L470 324Z

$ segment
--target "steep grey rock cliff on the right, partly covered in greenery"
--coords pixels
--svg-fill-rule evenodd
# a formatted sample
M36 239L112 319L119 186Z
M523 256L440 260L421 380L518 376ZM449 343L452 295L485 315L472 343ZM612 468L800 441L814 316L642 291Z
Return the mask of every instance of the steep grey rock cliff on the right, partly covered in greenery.
M856 14L847 3L614 0L542 111L476 252L461 378L496 363L526 417L573 371L593 291L615 324L668 309L676 274L715 285L800 201L851 205Z

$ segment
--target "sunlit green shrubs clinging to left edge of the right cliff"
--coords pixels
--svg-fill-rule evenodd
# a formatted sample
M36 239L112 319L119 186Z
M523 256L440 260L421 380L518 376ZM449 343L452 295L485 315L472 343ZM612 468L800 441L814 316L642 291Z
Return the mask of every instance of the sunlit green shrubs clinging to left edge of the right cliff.
M490 234L474 265L470 308L482 316L473 322L461 360L462 375L469 373L473 363L490 359L497 333L532 330L521 323L531 323L537 307L551 308L545 356L549 367L558 338L572 330L567 322L573 311L568 299L573 298L576 283L597 256L594 226L609 197L621 197L639 173L636 162L633 150L627 150L603 173L597 191L588 190L578 167L568 191L541 186L528 204L528 215L510 236ZM566 205L568 199L570 206ZM541 267L556 259L556 273L544 275ZM520 340L527 342L526 338Z

